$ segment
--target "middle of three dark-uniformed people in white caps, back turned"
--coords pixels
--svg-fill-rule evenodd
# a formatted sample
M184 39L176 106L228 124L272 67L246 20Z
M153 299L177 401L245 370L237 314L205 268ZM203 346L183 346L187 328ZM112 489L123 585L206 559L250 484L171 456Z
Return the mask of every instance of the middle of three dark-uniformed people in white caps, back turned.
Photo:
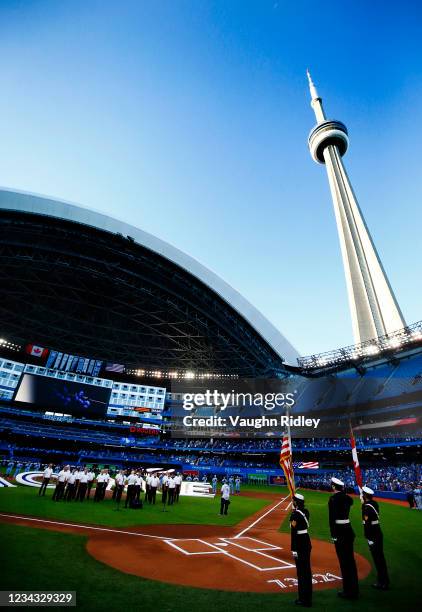
M338 594L344 599L357 599L359 596L358 573L353 554L355 533L349 519L353 499L344 491L344 482L338 478L331 479L334 491L328 501L331 538L336 547L343 578L343 590Z

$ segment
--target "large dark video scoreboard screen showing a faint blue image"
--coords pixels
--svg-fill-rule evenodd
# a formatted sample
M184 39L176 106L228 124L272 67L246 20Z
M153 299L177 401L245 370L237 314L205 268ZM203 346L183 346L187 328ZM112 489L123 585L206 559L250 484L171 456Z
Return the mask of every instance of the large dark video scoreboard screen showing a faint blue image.
M24 374L15 401L79 416L104 416L111 389L76 381Z

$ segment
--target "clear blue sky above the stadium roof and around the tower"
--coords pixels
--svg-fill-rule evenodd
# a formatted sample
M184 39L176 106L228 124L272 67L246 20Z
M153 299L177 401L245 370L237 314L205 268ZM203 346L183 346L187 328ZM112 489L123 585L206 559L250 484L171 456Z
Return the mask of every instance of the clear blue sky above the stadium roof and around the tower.
M309 66L408 323L421 319L417 2L0 1L0 184L186 251L302 354L353 343Z

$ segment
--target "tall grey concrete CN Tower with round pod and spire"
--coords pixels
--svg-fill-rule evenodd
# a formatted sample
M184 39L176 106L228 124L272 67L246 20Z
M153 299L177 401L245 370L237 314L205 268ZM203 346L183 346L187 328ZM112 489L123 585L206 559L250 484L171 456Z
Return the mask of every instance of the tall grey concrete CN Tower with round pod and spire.
M347 128L327 119L308 71L311 106L317 125L309 135L312 158L325 164L343 256L355 343L385 336L406 326L342 157L349 146Z

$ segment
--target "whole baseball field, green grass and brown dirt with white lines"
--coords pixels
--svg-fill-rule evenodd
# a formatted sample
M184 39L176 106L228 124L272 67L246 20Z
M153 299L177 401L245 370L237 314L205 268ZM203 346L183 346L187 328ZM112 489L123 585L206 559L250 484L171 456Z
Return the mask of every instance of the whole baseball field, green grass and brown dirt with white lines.
M411 610L421 601L418 511L380 502L392 586L371 588L374 574L362 535L360 503L351 515L361 580L357 602L341 601L339 567L328 529L328 493L302 491L311 513L316 610ZM280 487L242 488L229 514L219 497L181 497L163 511L116 509L111 499L58 502L26 486L0 489L0 586L72 590L80 610L254 611L294 608L290 511Z

